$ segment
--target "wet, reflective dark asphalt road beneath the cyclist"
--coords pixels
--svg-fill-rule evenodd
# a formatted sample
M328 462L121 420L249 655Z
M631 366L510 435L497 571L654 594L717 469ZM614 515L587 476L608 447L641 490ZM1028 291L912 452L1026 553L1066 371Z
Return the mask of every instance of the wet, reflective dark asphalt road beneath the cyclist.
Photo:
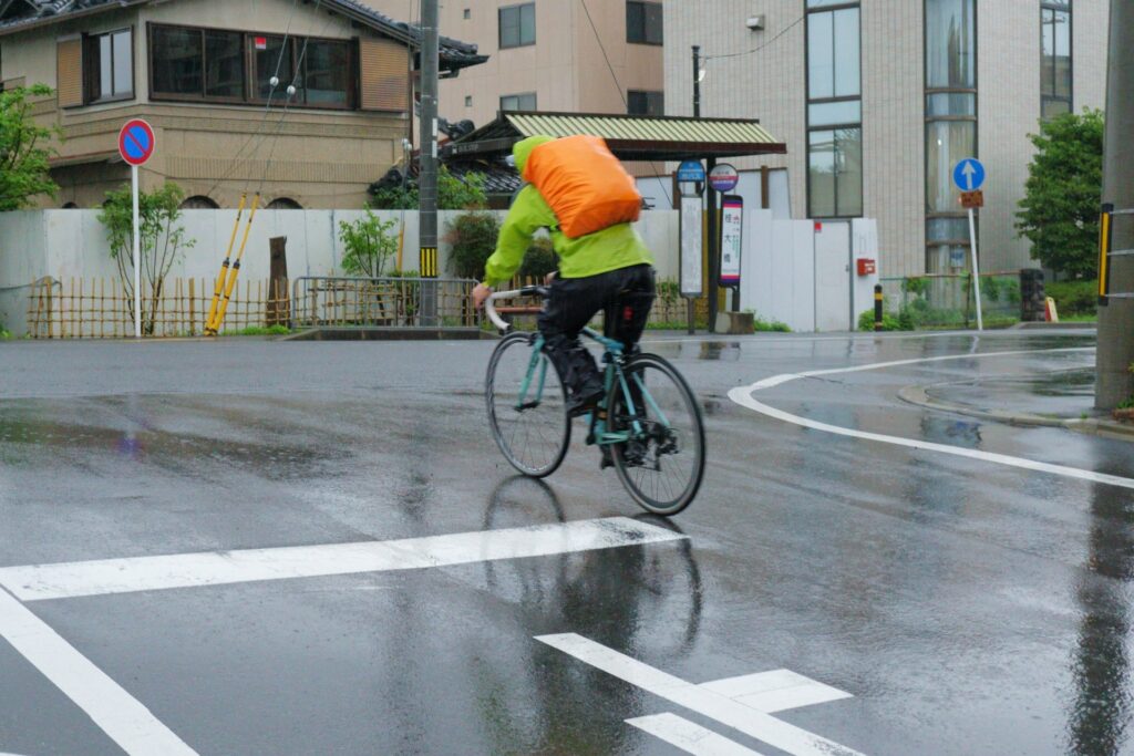
M616 517L685 536L26 602L202 755L683 753L626 723L666 712L751 753L802 753L535 639L549 634L692 683L790 670L853 697L775 717L863 754L1134 753L1134 491L832 435L728 398L784 373L1027 351L756 397L1132 477L1129 442L897 398L1089 367L1090 350L1044 350L1092 346L1074 332L657 338L648 348L703 400L710 444L701 495L667 525L577 441L547 485L511 474L484 419L491 342L2 343L0 568ZM0 753L122 749L0 639Z

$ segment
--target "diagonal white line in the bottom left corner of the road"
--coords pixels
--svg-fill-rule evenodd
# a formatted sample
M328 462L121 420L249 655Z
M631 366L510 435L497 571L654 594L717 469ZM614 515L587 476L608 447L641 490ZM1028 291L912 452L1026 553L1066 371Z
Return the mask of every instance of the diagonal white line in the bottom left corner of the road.
M26 606L0 591L0 638L130 756L195 756L174 732Z

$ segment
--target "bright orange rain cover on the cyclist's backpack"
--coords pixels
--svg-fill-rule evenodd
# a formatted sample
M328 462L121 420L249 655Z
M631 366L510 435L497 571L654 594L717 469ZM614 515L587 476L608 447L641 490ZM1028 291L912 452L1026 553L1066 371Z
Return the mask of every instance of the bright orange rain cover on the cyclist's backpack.
M634 178L602 137L568 136L532 150L524 179L540 190L572 239L617 223L631 223L642 212Z

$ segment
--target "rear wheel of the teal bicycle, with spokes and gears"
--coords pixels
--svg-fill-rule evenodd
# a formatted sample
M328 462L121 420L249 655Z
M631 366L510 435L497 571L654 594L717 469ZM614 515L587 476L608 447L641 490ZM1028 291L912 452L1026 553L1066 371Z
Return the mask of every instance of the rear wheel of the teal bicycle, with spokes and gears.
M631 440L611 449L623 485L654 515L676 515L693 501L705 469L701 406L682 374L657 355L636 355L624 367L634 409L621 387L611 389L610 427ZM635 431L634 425L637 424Z

